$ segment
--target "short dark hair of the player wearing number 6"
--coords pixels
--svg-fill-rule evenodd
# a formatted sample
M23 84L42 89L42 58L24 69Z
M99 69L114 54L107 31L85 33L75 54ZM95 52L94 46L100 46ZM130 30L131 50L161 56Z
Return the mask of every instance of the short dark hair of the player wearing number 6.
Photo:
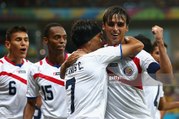
M12 34L16 32L28 33L27 29L24 26L13 26L6 31L6 40L10 41Z

